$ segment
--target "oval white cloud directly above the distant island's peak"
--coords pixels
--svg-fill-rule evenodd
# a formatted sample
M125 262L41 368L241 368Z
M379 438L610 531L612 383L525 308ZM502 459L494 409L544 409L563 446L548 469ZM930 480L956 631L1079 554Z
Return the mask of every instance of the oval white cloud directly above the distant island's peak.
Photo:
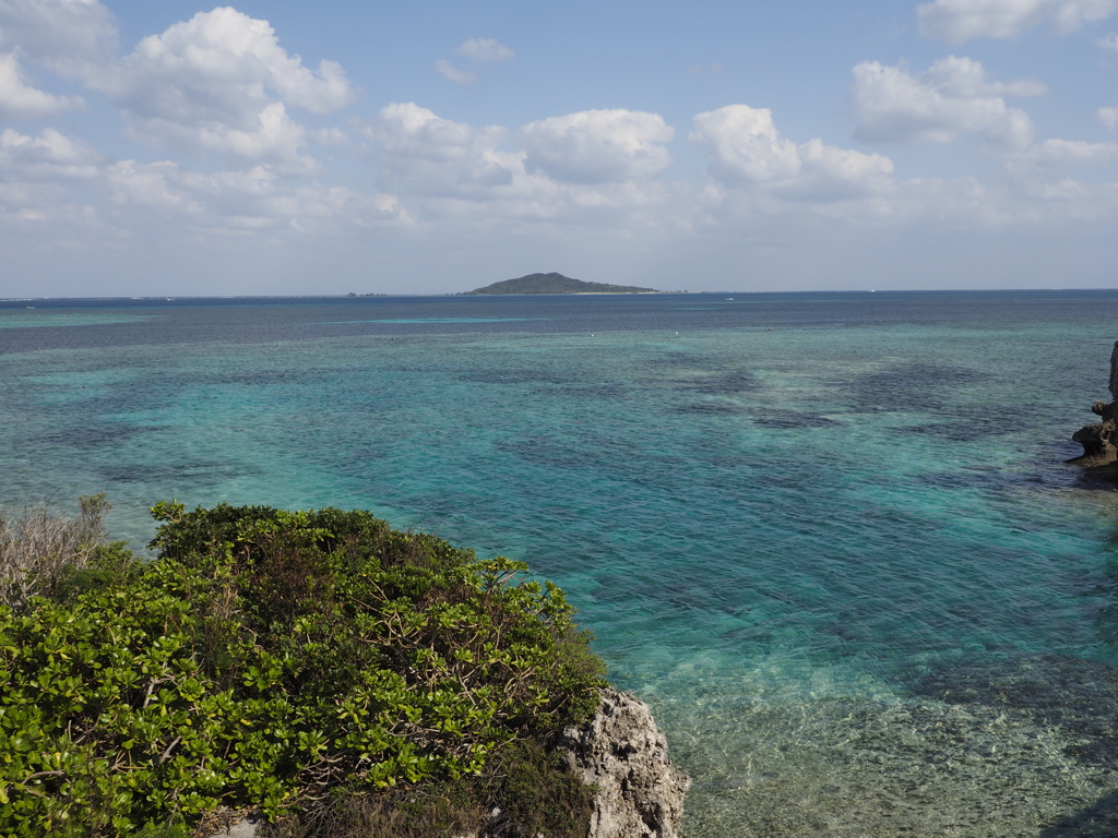
M522 127L517 139L524 164L571 183L607 183L653 178L671 163L661 143L674 130L660 114L642 111L581 111Z

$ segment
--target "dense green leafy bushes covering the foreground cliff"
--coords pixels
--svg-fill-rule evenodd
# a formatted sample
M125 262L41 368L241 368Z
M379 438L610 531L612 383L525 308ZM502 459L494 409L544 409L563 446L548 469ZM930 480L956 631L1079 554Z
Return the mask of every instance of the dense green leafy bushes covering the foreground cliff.
M604 666L549 582L367 512L160 503L141 559L0 517L0 834L585 836Z

